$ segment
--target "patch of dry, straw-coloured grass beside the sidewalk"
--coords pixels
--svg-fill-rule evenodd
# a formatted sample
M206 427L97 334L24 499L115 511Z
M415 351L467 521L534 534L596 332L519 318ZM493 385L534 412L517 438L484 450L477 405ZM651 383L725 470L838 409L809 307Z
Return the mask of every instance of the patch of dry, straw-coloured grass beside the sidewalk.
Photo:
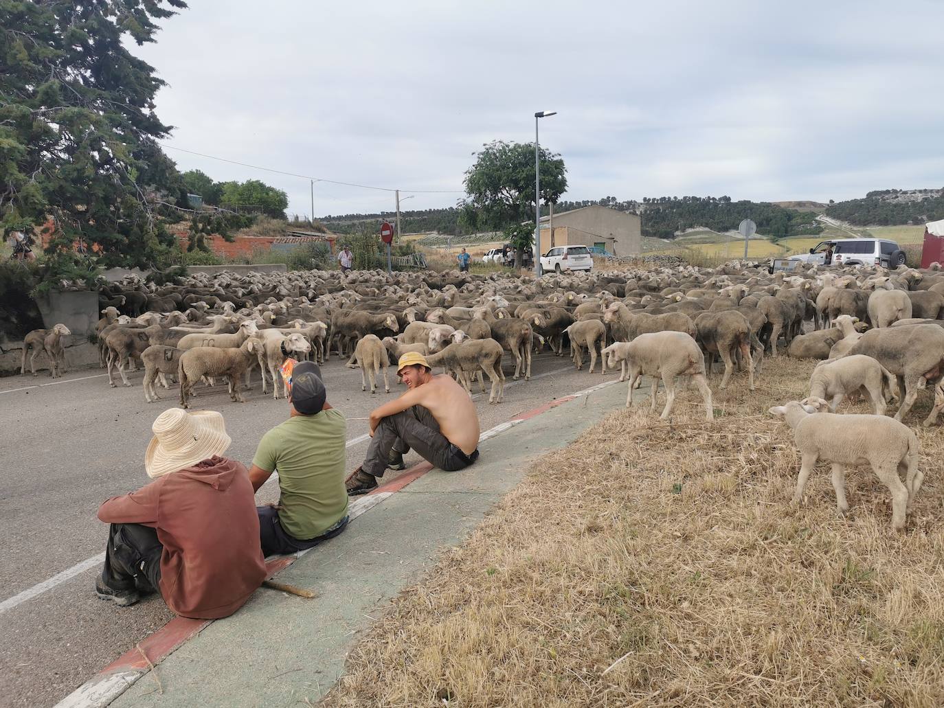
M918 431L906 534L866 469L849 518L827 465L791 508L798 456L766 411L812 367L767 360L754 393L735 378L714 423L694 392L671 425L616 410L534 464L363 636L326 705L944 704L941 432Z

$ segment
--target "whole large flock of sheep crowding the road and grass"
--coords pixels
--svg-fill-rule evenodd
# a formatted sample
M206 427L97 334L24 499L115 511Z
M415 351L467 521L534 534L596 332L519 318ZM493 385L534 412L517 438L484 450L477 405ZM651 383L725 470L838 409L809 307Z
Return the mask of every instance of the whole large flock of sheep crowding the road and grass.
M944 408L944 273L801 267L793 275L771 274L765 265L733 261L716 269L628 269L538 281L377 271L200 274L167 286L126 278L101 291L98 346L110 385L115 370L130 385L126 371L140 362L145 398L157 400L157 381L166 388L177 377L185 408L200 380L228 379L229 395L242 401L256 367L263 393L271 382L273 397L285 396L278 369L288 356L319 363L332 353L347 357L347 366L362 371L362 390L369 385L374 393L382 373L389 393L387 368L405 351L422 352L466 389L478 379L484 391L484 374L489 402L500 403L505 353L514 361L514 379L530 379L533 353L548 346L563 356L569 346L577 369L584 354L590 373L598 359L602 373L620 367L619 380L629 379L627 406L646 375L655 411L661 381L663 418L672 412L677 379L685 387L694 382L708 420L708 375L716 359L724 368L720 389L740 371L754 390L765 352L775 358L785 350L822 360L809 396L770 409L784 416L801 450L796 500L813 465L827 461L845 513L845 469L870 464L891 492L892 525L901 530L922 479L918 440L902 419L923 389L935 396L924 425ZM58 376L59 338L68 333L61 325L30 332L22 371L27 352L35 359L44 350ZM835 413L845 396L860 391L874 414ZM894 396L901 403L894 418L886 417Z

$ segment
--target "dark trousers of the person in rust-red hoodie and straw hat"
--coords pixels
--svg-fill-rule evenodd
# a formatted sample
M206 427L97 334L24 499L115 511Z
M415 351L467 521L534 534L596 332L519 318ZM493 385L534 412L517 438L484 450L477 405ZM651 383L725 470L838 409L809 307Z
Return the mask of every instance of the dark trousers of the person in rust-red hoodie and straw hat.
M111 524L102 582L112 590L160 592L158 531L142 524Z

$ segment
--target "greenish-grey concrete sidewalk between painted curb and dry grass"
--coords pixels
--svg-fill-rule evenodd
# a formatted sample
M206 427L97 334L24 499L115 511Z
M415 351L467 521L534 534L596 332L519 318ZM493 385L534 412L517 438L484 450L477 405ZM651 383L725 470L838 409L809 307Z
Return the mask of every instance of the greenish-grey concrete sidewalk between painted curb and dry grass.
M276 576L317 593L261 588L128 688L112 706L316 703L342 676L358 634L445 548L462 543L530 464L625 405L626 384L541 411L480 445L477 464L432 470ZM389 473L388 473L389 474ZM116 610L122 612L122 610ZM125 612L133 612L133 609Z

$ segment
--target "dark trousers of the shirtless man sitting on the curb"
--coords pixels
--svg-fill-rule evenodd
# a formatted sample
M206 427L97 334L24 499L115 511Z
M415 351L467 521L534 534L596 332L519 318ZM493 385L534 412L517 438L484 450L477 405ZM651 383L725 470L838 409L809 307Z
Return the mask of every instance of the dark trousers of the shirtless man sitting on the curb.
M381 477L391 450L402 455L411 448L424 460L447 472L464 469L479 459L479 450L466 455L439 431L439 423L432 413L423 406L413 406L380 420L361 469L368 475Z

